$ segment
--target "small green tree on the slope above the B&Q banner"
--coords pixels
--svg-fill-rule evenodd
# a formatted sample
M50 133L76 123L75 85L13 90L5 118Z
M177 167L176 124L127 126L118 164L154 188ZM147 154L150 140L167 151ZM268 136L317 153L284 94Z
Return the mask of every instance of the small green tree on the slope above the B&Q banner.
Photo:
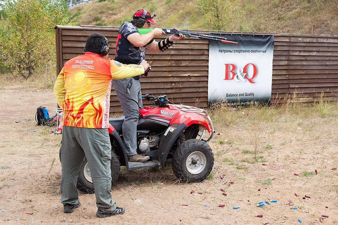
M204 25L211 30L241 29L244 11L232 0L198 0L197 8L204 15Z

